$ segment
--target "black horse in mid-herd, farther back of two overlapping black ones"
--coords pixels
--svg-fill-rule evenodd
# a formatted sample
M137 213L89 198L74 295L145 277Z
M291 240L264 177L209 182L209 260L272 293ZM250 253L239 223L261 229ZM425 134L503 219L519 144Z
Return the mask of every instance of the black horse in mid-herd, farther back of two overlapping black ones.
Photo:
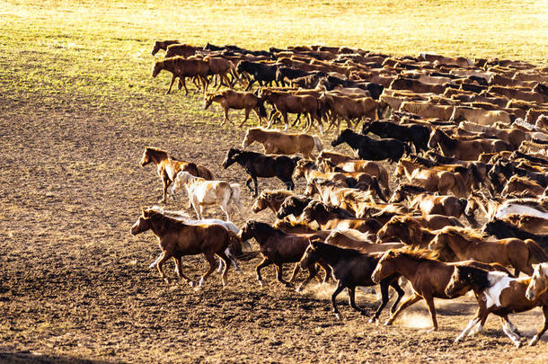
M417 153L429 149L430 129L422 125L406 127L391 121L369 121L364 123L361 129L363 135L367 135L368 132L381 138L394 138L402 142L411 142Z

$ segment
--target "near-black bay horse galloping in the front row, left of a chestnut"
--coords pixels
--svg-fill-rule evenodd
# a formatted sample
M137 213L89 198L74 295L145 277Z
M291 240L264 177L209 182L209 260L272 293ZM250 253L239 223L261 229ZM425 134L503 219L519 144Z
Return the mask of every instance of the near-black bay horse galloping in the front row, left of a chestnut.
M331 295L331 305L333 306L333 313L340 318L339 309L336 305L336 298L339 296L343 289L349 291L349 304L352 308L357 310L361 315L367 315L365 309L356 306L355 293L357 286L375 286L376 283L371 280L371 273L376 268L376 263L380 259L380 254L367 254L361 253L355 249L340 248L331 244L324 244L321 240L312 240L310 245L306 248L305 254L299 264L301 268L306 269L313 265L318 260L322 259L331 267L332 275L337 280L337 288ZM391 312L402 299L404 291L398 284L398 274L394 274L391 277L387 277L380 281L382 302L376 309L375 315L369 320L369 322L375 322L384 306L388 303L390 297L388 296L388 287L392 286L396 290L398 297L396 298Z

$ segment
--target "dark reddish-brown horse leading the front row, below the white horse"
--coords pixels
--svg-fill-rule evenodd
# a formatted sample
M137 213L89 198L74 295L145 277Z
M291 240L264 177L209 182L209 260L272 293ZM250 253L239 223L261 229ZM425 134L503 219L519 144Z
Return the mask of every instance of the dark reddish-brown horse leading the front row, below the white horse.
M158 238L162 249L156 267L163 280L169 282L162 268L164 262L173 258L179 278L187 280L190 286L193 286L194 282L181 271L181 257L203 253L209 263L209 269L200 278L199 287L215 271L215 255L225 263L222 280L223 286L226 285L226 275L231 264L231 260L226 256L226 250L230 244L239 245L241 248L241 241L232 231L218 224L185 224L180 219L168 217L157 209L143 209L142 215L131 226L131 235L141 234L149 229Z

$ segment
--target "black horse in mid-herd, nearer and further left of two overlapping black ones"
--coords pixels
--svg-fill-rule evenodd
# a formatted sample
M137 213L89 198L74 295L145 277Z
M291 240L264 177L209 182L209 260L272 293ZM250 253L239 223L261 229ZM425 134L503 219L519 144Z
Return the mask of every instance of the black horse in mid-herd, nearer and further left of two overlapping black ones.
M338 146L347 143L351 148L358 151L361 159L369 161L382 161L384 159L390 162L398 162L403 154L409 155L411 147L400 140L385 138L376 140L369 138L350 129L345 129L340 136L331 142L331 146Z

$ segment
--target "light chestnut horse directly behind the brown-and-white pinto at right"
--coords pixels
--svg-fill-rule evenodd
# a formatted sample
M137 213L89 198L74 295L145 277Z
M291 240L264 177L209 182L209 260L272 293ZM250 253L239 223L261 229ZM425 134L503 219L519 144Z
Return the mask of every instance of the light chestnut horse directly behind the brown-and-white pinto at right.
M543 248L533 240L525 242L517 238L485 241L485 236L455 226L446 226L436 232L429 249L441 255L455 256L456 260L473 259L478 262L497 262L505 267L514 267L516 277L519 271L533 274L533 263L548 262Z

